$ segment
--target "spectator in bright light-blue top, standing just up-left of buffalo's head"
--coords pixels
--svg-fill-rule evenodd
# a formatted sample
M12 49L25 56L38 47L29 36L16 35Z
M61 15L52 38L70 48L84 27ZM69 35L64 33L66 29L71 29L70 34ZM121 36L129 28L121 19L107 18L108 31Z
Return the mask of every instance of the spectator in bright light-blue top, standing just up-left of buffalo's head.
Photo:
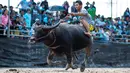
M27 9L27 13L24 15L26 27L31 28L31 10Z

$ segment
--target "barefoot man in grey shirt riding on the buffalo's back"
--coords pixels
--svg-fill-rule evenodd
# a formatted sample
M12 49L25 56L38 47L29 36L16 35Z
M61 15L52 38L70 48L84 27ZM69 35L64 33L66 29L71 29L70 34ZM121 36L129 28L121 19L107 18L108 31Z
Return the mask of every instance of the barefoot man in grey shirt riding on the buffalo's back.
M76 1L75 7L77 9L77 13L70 13L68 15L71 16L78 16L80 18L80 22L83 24L87 32L85 31L84 33L88 36L91 36L90 30L89 30L89 24L92 24L92 18L91 15L86 11L82 10L82 1Z

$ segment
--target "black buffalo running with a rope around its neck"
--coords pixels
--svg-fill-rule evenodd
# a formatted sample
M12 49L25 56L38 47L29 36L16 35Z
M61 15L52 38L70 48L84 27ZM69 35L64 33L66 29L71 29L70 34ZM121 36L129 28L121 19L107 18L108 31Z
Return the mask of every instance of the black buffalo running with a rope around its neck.
M92 39L84 34L85 28L81 25L57 24L53 26L39 26L34 28L35 34L31 37L31 42L44 42L49 47L47 63L50 64L53 56L66 55L67 65L69 68L75 69L73 65L73 52L85 48L86 56L89 56ZM85 69L84 63L81 67Z

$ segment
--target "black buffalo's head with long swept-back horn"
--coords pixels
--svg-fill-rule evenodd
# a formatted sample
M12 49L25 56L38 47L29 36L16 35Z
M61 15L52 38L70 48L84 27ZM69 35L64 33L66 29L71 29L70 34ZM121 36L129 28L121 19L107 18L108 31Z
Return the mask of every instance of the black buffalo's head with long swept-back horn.
M34 27L34 34L31 36L29 43L41 42L46 39L50 31L55 29L60 24L60 21L52 26L40 25L38 27Z

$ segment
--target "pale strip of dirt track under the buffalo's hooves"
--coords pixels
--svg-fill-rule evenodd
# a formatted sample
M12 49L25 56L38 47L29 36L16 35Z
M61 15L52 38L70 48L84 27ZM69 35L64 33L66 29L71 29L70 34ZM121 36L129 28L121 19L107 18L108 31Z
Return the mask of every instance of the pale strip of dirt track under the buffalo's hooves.
M0 73L130 73L130 68L86 68L84 72L64 68L1 68Z

